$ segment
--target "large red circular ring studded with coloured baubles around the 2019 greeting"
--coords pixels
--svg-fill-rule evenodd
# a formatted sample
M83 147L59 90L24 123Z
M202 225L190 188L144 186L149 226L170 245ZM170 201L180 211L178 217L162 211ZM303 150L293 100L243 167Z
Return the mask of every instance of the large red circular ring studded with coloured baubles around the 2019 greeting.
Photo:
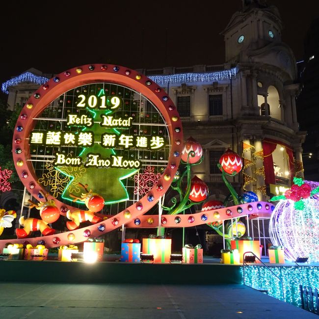
M24 186L26 186L32 196L40 199L39 191L46 192L46 189L37 181L37 176L34 172L32 162L30 161L29 145L29 135L35 126L36 118L46 109L47 106L50 105L50 103L68 90L80 85L100 82L122 85L145 96L160 111L160 114L166 122L165 125L169 133L171 148L168 156L168 165L161 174L158 182L158 184L162 187L159 189L159 187L154 186L150 190L148 194L154 196L154 200L152 202L147 200L148 194L146 194L138 201L138 203L134 203L124 210L131 213L131 218L126 219L126 221L129 221L137 215L146 213L158 202L160 196L165 193L173 181L173 177L175 176L180 163L180 154L183 149L182 123L176 107L159 85L149 78L140 75L138 72L122 66L109 64L83 65L62 72L45 84L41 85L23 107L16 123L12 143L13 160L17 173ZM17 149L20 149L21 151L19 150L19 152L16 152ZM24 178L22 175L24 175ZM67 207L70 210L74 209L72 206L53 198L51 194L48 198L55 200L56 206L59 210L61 210L61 207ZM142 205L142 209L140 204ZM139 207L137 209L138 205ZM118 219L124 218L124 211L118 213L114 217ZM60 214L65 215L65 213L61 211ZM108 224L111 221L106 220L104 222ZM114 228L113 225L112 227Z

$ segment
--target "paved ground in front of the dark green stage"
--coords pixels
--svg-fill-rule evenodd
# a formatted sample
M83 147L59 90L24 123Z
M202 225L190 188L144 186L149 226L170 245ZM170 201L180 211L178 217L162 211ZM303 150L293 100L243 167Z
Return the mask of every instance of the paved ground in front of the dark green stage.
M0 283L0 318L316 319L318 317L241 285Z

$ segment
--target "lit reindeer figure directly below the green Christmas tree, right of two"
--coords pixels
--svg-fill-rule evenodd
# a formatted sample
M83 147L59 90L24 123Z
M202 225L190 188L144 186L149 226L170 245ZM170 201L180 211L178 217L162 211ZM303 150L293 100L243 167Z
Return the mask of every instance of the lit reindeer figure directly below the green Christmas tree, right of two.
M97 193L93 193L92 189L88 190L88 185L79 183L79 186L84 188L85 193L81 194L81 197L70 194L70 197L74 198L74 202L80 200L85 203L85 206L89 209L88 211L77 210L74 212L68 211L66 216L72 221L66 223L66 227L69 230L75 230L79 228L80 223L83 221L90 221L92 224L100 222L102 219L95 216L94 213L101 211L104 207L104 198Z

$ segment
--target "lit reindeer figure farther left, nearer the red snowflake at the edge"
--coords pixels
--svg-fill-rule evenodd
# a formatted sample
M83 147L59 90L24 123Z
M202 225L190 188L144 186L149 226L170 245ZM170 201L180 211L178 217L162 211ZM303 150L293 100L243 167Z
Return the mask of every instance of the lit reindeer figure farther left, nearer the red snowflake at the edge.
M48 200L48 193L44 194L40 191L40 194L45 199L45 202L33 203L32 201L28 200L30 204L29 207L35 207L37 210L40 211L40 217L42 219L37 218L27 218L25 219L24 216L21 216L19 219L19 223L24 228L17 228L16 234L18 238L26 238L30 235L31 232L39 230L42 235L48 236L53 235L55 233L55 229L48 226L49 223L53 223L54 221L58 220L60 213L58 208L55 206L55 202L53 199Z

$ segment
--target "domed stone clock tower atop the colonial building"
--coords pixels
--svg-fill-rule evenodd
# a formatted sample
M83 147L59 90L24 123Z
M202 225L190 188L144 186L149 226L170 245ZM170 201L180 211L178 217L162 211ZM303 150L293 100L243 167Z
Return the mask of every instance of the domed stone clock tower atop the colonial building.
M278 9L263 0L243 0L222 34L226 63L266 63L277 66L294 79L292 50L282 42L283 24Z

